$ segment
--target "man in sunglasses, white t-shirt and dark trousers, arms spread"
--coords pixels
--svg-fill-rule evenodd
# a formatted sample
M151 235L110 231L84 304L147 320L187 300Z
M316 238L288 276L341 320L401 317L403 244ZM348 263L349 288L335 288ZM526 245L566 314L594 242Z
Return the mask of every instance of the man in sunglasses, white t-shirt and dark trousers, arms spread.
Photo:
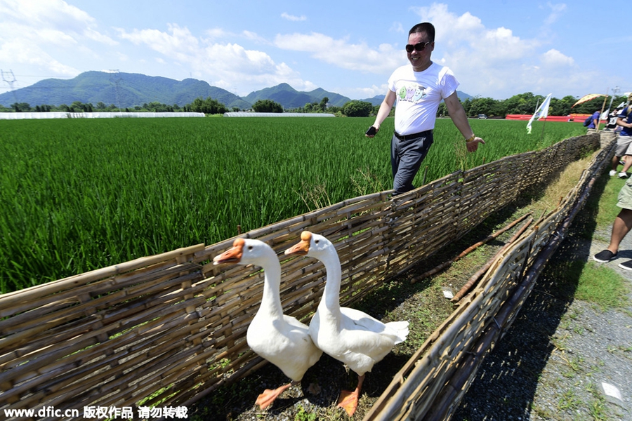
M393 108L395 100L395 133L391 139L390 166L393 170L393 189L402 194L414 189L412 181L433 143L433 129L441 100L456 128L466 139L468 152L475 152L485 141L474 135L459 98L452 70L430 60L435 49L435 27L419 23L410 29L406 51L412 66L405 65L388 79L388 92L382 101L369 138L380 130L380 124Z

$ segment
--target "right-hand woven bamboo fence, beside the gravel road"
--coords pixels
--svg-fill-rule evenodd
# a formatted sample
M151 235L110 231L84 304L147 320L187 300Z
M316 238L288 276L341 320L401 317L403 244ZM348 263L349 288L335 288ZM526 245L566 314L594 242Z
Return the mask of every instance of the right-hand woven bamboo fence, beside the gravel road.
M577 147L584 145L583 139L574 140ZM612 142L611 145L595 155L557 209L494 260L478 286L393 377L364 420L449 419L473 381L475 368L511 326L533 288L534 280L523 285L525 272L537 258L543 259L541 252L551 239L563 237L559 229L562 222L567 222L572 210L577 212L577 206L581 206L579 197L587 196L589 180L609 165L614 153ZM572 148L565 152L549 149L545 156L553 152L577 154Z

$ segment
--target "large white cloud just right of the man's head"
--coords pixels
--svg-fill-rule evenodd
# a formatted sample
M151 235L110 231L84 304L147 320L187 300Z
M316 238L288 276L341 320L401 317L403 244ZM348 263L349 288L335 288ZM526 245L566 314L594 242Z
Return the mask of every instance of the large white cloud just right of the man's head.
M548 4L550 25L566 10L565 4ZM550 39L524 39L506 27L490 28L466 12L456 15L446 4L414 8L421 22L436 29L433 60L450 67L461 81L459 89L470 95L503 98L503 93L572 92L577 83L588 83L591 74L580 72L572 57L555 48L544 51Z

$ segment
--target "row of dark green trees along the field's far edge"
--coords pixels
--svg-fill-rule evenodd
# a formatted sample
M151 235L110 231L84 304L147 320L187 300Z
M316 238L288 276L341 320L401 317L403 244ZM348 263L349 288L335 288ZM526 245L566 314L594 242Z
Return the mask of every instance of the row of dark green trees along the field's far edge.
M534 95L533 93L520 93L506 100L494 100L493 98L467 98L462 101L463 109L470 117L476 117L478 114L485 114L488 117L504 118L507 114L534 114L537 107L544 101L546 97L542 95ZM577 98L567 95L562 99L551 98L548 114L551 116L567 116L569 114L593 114L602 107L607 109L612 103L612 107L617 107L621 102L625 102L626 97L608 96L599 97L594 100L584 102L573 107L577 102ZM378 112L379 105L372 105L367 101L351 100L346 102L342 107L329 105L329 98L324 97L320 102L308 102L303 107L292 109L284 109L282 105L272 100L258 100L252 105L254 112L297 112L297 113L319 113L327 112L336 116L362 117L375 115ZM0 105L0 112L203 112L204 114L223 114L229 109L218 100L213 98L196 98L190 104L180 107L177 104L166 105L159 102L145 103L142 106L132 108L119 109L114 104L105 105L103 102L97 102L96 105L91 103L84 104L80 101L74 101L71 105L36 105L31 107L26 102L15 102L10 108ZM232 111L241 111L237 107L233 107ZM612 111L612 110L611 110ZM393 113L393 109L391 110ZM447 108L445 102L442 102L437 111L437 116L447 116Z

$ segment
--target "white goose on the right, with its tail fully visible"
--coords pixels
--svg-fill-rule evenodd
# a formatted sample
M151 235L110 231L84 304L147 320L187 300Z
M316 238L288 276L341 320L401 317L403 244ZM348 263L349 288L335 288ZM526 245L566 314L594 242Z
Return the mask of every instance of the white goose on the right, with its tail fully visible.
M310 336L317 347L357 373L355 391L343 390L338 399L338 406L351 416L357 408L364 374L406 340L408 321L382 323L359 310L340 307L340 260L334 244L324 236L303 231L301 242L285 250L285 254L316 258L327 269L323 296L310 321Z

